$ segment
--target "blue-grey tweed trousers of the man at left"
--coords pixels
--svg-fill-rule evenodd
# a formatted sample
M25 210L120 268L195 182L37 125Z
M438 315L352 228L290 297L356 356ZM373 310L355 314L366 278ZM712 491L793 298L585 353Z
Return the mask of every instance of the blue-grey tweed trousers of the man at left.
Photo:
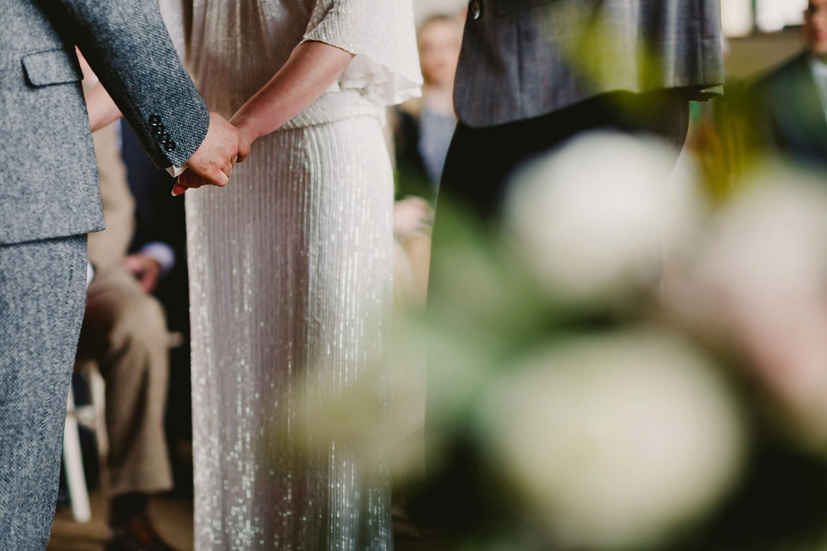
M0 245L0 549L42 551L86 300L86 235Z

